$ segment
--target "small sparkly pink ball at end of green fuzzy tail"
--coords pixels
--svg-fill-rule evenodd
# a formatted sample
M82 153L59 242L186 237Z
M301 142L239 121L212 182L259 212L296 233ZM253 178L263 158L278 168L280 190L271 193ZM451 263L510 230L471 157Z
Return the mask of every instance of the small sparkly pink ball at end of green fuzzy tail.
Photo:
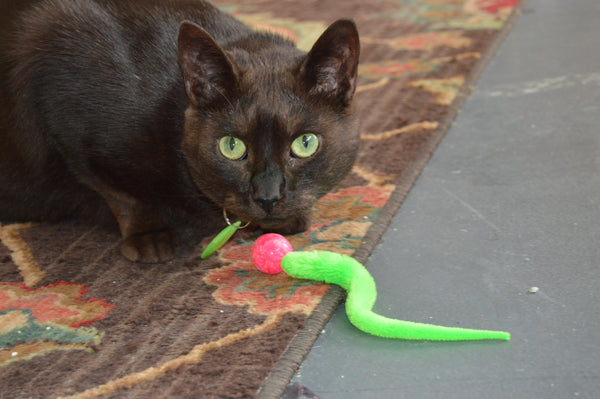
M252 247L252 261L263 273L281 273L281 259L292 252L292 244L282 235L268 233L258 237Z

